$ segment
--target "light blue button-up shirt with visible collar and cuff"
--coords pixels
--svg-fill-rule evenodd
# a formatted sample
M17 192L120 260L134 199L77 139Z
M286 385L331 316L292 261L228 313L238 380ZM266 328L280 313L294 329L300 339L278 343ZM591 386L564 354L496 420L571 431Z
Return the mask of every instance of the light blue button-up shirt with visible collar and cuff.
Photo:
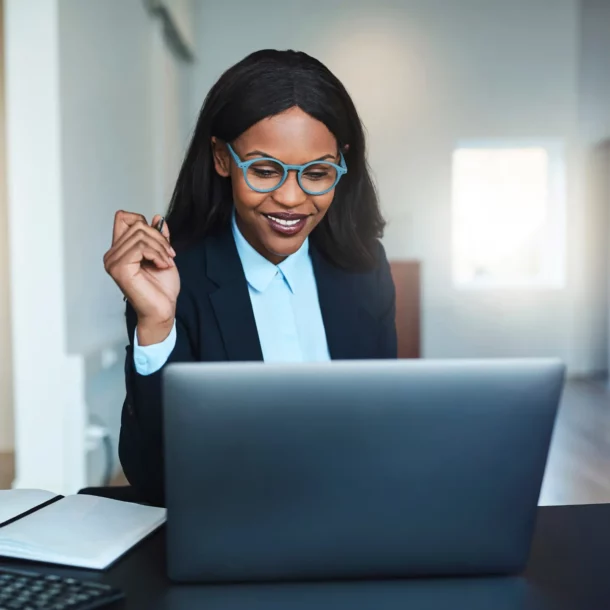
M233 218L233 238L248 282L250 302L265 362L330 360L309 240L279 265L260 255ZM140 375L158 371L176 345L176 324L162 343L142 347L134 337L134 362Z

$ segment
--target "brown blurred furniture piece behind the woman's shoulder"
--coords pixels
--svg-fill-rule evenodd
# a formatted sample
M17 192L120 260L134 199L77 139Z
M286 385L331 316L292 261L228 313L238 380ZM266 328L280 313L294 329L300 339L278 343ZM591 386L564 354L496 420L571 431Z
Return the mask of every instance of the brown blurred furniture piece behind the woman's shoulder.
M421 355L421 303L419 261L390 261L396 286L396 333L398 357Z

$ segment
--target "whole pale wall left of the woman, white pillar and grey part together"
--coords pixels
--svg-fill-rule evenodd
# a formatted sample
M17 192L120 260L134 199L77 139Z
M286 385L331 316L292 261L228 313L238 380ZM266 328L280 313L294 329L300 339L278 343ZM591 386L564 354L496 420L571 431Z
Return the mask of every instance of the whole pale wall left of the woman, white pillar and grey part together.
M124 303L102 263L113 216L165 209L185 78L141 0L7 0L6 31L15 485L72 493L100 483L101 452L89 472L84 461L89 418L115 451L118 438Z

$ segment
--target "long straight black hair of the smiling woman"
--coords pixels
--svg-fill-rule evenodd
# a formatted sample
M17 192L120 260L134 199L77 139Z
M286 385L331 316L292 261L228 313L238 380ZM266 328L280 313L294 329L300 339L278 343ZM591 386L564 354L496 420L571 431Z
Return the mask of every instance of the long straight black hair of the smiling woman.
M252 53L229 68L206 96L167 215L172 243L189 243L229 226L231 180L214 169L211 137L232 142L260 120L295 106L326 125L348 167L332 205L311 234L312 244L344 269L375 264L385 222L366 161L360 117L337 77L297 51Z

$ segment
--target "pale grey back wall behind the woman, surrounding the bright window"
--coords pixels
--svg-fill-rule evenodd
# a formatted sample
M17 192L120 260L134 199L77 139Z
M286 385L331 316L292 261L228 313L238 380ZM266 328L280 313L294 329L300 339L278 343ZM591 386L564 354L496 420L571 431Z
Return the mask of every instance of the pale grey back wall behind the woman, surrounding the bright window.
M193 108L225 68L261 47L315 55L352 93L390 221L388 253L423 262L425 356L556 355L573 371L589 364L589 346L574 346L581 261L573 252L565 290L459 293L450 275L456 141L563 138L569 177L578 175L575 0L312 0L306 10L261 0L240 5L237 17L230 4L198 7ZM568 226L579 215L575 202L571 193Z

